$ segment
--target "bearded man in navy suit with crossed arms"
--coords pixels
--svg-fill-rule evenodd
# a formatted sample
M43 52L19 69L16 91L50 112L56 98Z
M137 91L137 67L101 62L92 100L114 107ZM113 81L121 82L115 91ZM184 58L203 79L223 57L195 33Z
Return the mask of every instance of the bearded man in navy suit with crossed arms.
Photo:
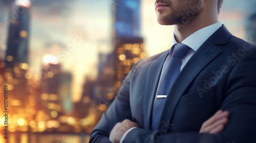
M134 65L90 142L256 142L256 48L218 22L222 2L156 1L172 48Z

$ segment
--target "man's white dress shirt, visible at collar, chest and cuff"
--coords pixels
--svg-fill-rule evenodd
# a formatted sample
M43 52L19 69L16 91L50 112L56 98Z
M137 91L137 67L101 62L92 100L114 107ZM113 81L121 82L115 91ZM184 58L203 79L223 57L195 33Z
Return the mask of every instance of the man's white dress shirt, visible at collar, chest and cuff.
M187 52L187 54L185 54L185 56L182 58L182 64L181 64L181 68L180 71L184 68L184 66L186 65L186 63L188 62L188 60L191 58L191 56L193 56L193 54L199 49L199 47L212 35L214 34L220 27L222 26L221 22L217 22L215 24L211 24L207 27L202 28L201 30L196 31L195 33L191 34L190 36L188 36L185 40L183 40L181 43L189 46L191 48L191 50L189 50ZM177 41L175 40L175 36L173 37L173 41L172 41L172 45L170 47L173 47L173 45L175 45L177 43ZM170 48L169 51L171 54L169 54L163 64L163 69L165 69L167 67L167 64L170 62L170 58L172 57L171 55L173 54L173 48ZM161 78L161 77L160 77ZM134 128L131 128L129 130L127 130L121 140L120 143L122 143L123 139L125 138L125 136Z

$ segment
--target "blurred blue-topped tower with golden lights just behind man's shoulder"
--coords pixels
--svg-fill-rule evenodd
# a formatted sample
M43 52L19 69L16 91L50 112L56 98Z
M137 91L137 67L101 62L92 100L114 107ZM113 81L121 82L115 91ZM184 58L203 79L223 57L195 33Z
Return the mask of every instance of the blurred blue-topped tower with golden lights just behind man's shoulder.
M140 0L120 1L115 3L114 11L114 48L115 77L110 94L117 94L122 80L130 72L132 66L146 54L143 38L140 37Z

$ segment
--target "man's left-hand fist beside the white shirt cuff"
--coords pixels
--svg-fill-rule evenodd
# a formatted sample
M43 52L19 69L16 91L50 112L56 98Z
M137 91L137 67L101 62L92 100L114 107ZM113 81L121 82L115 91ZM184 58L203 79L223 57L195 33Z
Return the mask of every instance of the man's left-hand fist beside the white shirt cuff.
M117 123L110 133L110 141L113 143L119 143L123 134L133 127L139 128L139 125L127 119L123 122Z

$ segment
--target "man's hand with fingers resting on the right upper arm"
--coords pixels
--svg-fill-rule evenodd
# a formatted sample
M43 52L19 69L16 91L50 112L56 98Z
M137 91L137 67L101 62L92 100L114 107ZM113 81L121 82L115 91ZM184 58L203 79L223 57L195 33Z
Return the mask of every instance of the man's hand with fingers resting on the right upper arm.
M199 133L217 134L220 133L228 123L228 111L219 110L201 126Z

